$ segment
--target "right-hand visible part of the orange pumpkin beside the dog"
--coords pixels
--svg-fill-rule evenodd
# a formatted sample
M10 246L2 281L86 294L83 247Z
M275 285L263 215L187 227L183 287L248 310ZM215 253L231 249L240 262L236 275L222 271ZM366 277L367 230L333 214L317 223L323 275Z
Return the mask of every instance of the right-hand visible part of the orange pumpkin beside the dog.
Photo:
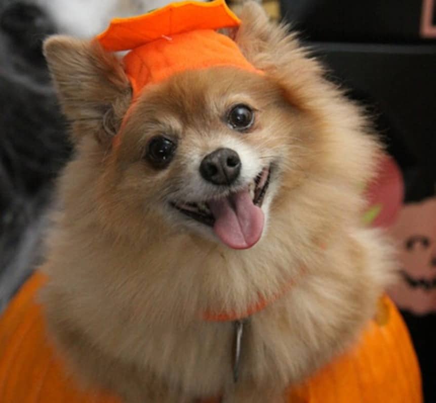
M293 397L297 399L293 400ZM299 400L298 400L299 398ZM360 343L304 385L289 403L421 403L421 375L409 333L397 308L383 297Z

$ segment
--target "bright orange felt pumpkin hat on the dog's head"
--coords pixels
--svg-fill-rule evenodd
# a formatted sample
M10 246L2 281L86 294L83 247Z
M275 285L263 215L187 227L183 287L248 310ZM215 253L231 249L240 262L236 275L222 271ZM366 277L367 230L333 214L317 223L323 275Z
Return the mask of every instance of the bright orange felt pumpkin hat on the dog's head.
M216 32L240 23L224 0L181 2L115 19L97 40L109 52L130 51L123 62L136 98L145 85L186 70L233 66L259 72L232 39Z

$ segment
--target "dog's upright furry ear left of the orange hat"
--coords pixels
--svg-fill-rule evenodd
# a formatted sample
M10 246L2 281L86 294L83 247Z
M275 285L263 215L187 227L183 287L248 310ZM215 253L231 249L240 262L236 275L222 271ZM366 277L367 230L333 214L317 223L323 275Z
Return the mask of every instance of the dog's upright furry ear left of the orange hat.
M73 141L91 135L110 145L132 99L121 61L96 40L60 35L45 41L44 54L64 114L72 123Z

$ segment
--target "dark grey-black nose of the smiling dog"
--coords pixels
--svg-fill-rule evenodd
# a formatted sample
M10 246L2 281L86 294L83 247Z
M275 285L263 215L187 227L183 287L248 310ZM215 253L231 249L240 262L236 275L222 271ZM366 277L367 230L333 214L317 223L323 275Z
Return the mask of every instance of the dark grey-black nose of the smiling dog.
M203 158L200 173L215 185L231 185L241 172L241 160L236 151L219 148Z

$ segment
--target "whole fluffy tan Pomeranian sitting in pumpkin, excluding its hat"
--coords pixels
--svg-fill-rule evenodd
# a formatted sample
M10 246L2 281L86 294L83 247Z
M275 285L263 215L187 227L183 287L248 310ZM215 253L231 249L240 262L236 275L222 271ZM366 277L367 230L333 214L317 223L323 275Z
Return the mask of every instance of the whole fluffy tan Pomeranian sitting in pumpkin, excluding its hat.
M76 147L48 327L79 378L126 403L285 401L356 340L390 276L361 219L381 154L366 118L260 6L241 20L227 34L263 74L174 74L127 120L115 55L45 43Z

